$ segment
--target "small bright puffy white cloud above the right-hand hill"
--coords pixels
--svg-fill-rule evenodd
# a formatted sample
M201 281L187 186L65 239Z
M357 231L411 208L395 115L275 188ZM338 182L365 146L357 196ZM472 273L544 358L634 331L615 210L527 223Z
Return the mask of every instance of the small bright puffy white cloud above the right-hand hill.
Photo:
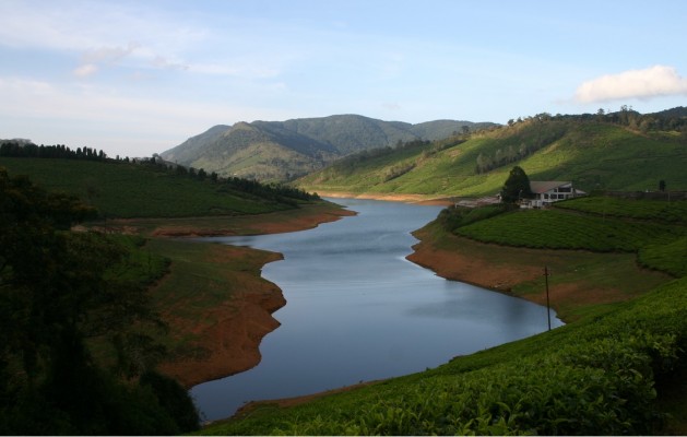
M584 82L578 87L575 99L594 103L682 94L687 95L687 79L682 78L673 67L654 66Z

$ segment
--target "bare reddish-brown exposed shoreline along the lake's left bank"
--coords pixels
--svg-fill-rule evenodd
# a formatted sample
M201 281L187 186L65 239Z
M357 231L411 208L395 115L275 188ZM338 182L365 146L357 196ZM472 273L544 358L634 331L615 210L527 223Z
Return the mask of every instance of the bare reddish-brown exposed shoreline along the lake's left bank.
M250 222L250 234L277 234L313 228L322 223L337 221L350 215L355 215L355 213L343 208L329 206L297 215L276 213L247 220ZM237 234L239 233L233 226L194 227L192 224L174 222L163 223L151 231L151 235L156 237ZM240 234L244 232L241 231ZM251 257L251 267L250 269L241 268L239 271L234 268L234 271L227 272L230 275L227 281L239 290L227 293L228 297L216 308L206 309L206 314L200 320L175 317L171 308L161 309L163 318L170 326L170 335L182 338L192 334L197 338L193 343L194 347L202 351L198 356L177 357L159 366L163 373L177 379L187 389L246 371L258 365L261 359L259 346L262 339L280 327L280 322L272 317L272 314L286 305L282 290L260 275L260 271L266 263L282 259L281 253L226 245L209 244L208 246L211 246L208 249L211 257L209 262L225 263L227 269L232 269L230 262ZM194 305L194 303L188 302L181 305Z

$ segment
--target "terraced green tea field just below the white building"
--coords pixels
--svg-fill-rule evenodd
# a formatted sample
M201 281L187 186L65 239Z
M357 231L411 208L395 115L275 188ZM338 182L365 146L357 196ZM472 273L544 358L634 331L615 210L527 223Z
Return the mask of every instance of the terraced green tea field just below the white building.
M484 215L488 220L460 218ZM455 235L482 243L534 249L633 252L649 269L687 271L687 201L578 198L550 210L449 209L441 221Z

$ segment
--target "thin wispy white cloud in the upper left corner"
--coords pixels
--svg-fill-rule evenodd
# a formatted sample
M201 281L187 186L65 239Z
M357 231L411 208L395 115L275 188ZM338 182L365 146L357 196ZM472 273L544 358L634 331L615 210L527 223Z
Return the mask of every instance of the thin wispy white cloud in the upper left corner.
M206 38L205 31L137 3L45 2L36 13L31 2L0 1L0 47L81 54L78 75L88 64L103 68L123 59L143 68L186 69L178 59Z

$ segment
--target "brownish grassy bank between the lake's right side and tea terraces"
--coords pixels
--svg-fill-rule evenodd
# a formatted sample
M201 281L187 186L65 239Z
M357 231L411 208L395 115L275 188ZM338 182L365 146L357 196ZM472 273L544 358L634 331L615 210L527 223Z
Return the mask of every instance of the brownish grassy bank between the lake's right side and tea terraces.
M633 252L593 252L590 250L550 250L509 247L485 244L449 233L434 222L415 233L422 245L440 250L448 265L460 264L457 255L477 261L481 269L511 271L512 277L506 291L519 297L545 305L544 267L548 268L552 306L558 317L568 322L579 320L588 312L604 308L611 303L625 302L642 295L671 279L661 271L642 269ZM433 265L430 265L433 268ZM470 282L463 272L459 275L440 272L458 281ZM474 273L472 282L479 282L481 273Z

